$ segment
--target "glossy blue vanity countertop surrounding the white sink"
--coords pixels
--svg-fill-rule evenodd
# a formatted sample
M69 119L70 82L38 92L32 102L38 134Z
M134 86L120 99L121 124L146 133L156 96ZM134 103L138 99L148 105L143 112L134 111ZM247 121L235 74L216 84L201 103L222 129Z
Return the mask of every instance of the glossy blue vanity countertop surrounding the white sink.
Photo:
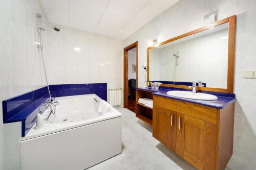
M172 90L191 91L189 89L170 88L170 87L160 87L159 90L152 90L151 87L149 87L149 88L138 87L137 89L138 90L150 91L150 92L153 92L153 95L159 95L159 96L163 96L165 98L177 99L177 100L180 100L180 101L195 103L195 104L209 106L209 107L215 107L215 108L218 108L218 109L223 109L228 104L236 101L235 95L230 94L230 93L200 91L202 93L208 93L208 94L213 94L213 95L218 96L218 100L205 101L205 100L194 100L194 99L178 98L178 97L171 96L171 95L167 94L167 91L172 91Z

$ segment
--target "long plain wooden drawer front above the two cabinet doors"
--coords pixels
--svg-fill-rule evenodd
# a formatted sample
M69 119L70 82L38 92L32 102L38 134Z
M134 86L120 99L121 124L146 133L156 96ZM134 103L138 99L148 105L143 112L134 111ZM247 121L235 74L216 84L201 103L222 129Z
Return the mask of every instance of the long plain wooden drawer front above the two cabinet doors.
M173 111L180 112L212 124L217 124L217 108L164 98L157 95L154 95L154 107L155 106L171 109Z

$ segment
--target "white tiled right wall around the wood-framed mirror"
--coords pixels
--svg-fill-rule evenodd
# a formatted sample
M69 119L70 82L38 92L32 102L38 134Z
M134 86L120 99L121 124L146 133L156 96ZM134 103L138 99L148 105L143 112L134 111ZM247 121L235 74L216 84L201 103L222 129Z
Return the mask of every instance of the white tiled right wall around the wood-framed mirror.
M256 157L255 80L243 79L242 70L255 70L255 1L181 0L124 39L123 46L138 41L138 85L143 86L143 70L140 65L146 61L146 47L148 47L149 41L158 38L158 42L161 42L202 27L204 26L204 16L212 12L217 12L217 18L223 19L233 15L234 11L238 14L234 82L234 92L238 94L238 101L234 119L234 152L229 162L229 168L233 170L254 169L256 166L254 161Z

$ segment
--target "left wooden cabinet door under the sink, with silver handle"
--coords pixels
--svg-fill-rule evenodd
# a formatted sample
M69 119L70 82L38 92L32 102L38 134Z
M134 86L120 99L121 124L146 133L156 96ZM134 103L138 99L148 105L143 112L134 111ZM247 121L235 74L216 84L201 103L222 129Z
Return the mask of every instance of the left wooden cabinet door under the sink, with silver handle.
M153 136L174 152L176 151L176 112L154 106Z

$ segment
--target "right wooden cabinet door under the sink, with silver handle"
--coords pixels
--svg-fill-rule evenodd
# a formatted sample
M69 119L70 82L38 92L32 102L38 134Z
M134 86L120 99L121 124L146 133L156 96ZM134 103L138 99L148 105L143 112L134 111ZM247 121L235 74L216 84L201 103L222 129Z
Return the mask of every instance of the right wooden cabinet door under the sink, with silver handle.
M217 126L177 114L177 154L198 169L215 169Z

